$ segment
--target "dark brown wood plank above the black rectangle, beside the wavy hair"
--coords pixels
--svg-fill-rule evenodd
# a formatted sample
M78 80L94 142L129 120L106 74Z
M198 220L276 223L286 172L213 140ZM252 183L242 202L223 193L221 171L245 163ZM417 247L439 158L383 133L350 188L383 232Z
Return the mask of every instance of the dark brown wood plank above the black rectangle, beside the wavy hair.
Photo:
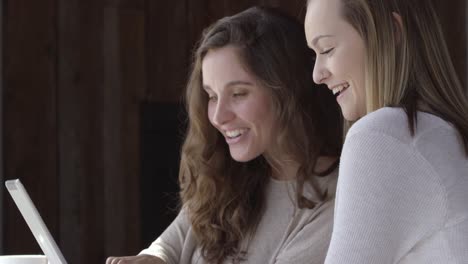
M187 47L187 3L148 1L148 86L151 101L177 102L185 88ZM202 14L200 14L202 15Z

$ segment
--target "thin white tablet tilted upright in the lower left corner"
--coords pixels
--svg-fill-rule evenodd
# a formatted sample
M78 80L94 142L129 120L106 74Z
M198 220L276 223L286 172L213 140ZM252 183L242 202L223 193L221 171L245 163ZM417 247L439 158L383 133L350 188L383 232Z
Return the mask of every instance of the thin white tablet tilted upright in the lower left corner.
M23 215L29 229L31 229L37 243L39 243L39 246L49 260L49 263L66 264L67 261L50 235L49 229L44 224L41 215L20 180L8 180L5 182L5 186L20 210L21 215Z

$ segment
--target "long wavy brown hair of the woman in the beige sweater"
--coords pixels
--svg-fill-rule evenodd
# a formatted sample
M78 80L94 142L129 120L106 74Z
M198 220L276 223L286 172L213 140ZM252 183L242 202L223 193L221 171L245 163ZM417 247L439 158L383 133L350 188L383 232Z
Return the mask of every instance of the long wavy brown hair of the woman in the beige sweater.
M300 164L297 201L300 208L315 202L302 192L305 182L317 191L319 156L338 157L342 119L332 94L312 81L313 53L301 23L277 10L253 7L208 27L194 52L186 90L188 132L182 147L179 181L182 206L187 210L203 257L209 263L238 256L240 242L255 232L262 216L265 186L272 162L263 155L237 162L223 136L210 124L208 95L202 88L202 61L210 50L237 47L241 63L271 91L279 123L276 142L282 153Z

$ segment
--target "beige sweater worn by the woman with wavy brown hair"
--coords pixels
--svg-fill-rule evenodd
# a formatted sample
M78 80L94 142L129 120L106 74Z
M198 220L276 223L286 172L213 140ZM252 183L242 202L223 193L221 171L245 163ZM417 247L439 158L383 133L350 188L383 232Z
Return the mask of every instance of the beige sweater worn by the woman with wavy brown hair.
M322 188L328 189L328 201L314 209L298 209L293 198L294 182L271 179L257 231L249 241L242 242L247 249L246 261L242 263L323 264L332 231L336 180L336 171L320 178ZM304 193L311 199L317 197L307 185ZM167 264L206 263L184 210L140 254L158 256ZM232 263L232 260L225 263Z

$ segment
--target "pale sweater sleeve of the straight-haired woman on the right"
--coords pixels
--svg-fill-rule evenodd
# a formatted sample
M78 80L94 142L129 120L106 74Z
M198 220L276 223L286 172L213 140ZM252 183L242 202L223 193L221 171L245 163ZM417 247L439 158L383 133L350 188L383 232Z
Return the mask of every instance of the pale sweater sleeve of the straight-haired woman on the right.
M326 264L397 263L440 229L445 192L414 146L375 131L348 134Z

